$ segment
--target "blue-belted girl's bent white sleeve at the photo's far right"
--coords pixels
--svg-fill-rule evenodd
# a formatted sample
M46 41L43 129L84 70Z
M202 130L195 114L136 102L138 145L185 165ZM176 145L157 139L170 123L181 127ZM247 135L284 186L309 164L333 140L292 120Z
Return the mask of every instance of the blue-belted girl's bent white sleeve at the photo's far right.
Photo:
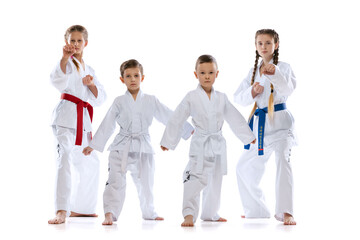
M290 96L296 87L296 78L289 64L275 66L274 75L265 75L280 95Z

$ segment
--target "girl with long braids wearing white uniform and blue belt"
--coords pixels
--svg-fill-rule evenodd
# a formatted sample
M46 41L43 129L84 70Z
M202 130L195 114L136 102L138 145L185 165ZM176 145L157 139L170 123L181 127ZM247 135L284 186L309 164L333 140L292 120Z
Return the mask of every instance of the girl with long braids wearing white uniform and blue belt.
M274 152L277 168L275 217L285 225L295 225L290 153L296 138L294 119L285 102L296 87L296 79L290 65L278 61L279 35L274 30L257 31L255 46L255 66L235 93L235 102L244 106L255 103L250 126L258 135L258 144L246 146L248 150L237 165L244 217L270 217L259 184L266 162ZM259 57L262 58L260 64Z

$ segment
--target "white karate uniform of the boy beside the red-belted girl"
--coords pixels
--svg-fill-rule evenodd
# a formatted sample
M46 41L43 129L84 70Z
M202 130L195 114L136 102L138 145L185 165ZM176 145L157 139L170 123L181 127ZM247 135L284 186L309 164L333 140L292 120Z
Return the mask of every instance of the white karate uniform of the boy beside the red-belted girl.
M130 171L140 200L142 217L158 217L153 203L154 150L151 146L149 127L155 117L166 125L172 111L151 95L140 90L136 100L129 91L117 97L90 142L90 147L102 152L113 134L116 123L120 132L109 146L109 178L104 191L104 212L119 217L126 188L126 172ZM185 139L191 136L193 127L181 126Z

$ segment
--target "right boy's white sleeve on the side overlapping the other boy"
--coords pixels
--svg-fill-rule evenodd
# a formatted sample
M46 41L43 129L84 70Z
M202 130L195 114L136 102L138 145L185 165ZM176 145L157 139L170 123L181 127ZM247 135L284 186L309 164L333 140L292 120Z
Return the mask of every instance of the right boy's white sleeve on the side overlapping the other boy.
M186 96L180 105L175 109L171 118L167 122L163 137L160 142L161 146L171 150L176 148L184 131L184 123L189 116L190 104Z

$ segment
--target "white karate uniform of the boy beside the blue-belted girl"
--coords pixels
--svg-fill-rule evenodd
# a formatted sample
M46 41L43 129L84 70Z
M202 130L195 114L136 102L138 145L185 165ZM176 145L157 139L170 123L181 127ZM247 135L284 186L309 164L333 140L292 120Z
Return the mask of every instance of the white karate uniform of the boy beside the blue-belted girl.
M224 93L211 90L209 99L203 88L189 92L169 120L161 145L174 150L180 140L180 126L192 116L195 132L191 139L189 163L184 171L183 216L199 213L200 192L203 190L202 220L220 218L222 177L227 173L226 142L221 129L226 120L235 135L245 144L255 137L245 119Z

